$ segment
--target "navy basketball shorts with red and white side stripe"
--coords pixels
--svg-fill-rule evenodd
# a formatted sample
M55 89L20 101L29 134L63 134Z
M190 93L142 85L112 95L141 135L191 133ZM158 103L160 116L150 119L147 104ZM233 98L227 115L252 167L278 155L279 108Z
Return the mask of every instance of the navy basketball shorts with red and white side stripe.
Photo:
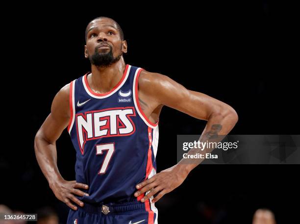
M84 203L77 208L70 209L67 224L157 224L157 209L149 199L100 206Z

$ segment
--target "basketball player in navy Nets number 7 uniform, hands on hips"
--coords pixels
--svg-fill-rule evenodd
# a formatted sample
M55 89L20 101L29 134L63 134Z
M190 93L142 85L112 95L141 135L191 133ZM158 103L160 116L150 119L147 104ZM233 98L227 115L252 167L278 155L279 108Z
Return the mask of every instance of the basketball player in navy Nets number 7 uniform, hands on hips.
M91 73L57 93L36 134L41 170L57 199L71 208L68 224L157 223L154 202L196 167L177 164L156 174L163 105L206 120L205 134L225 135L237 122L229 105L125 64L126 52L120 25L106 17L92 20L84 50ZM55 142L66 127L76 150L74 181L65 180L56 164Z

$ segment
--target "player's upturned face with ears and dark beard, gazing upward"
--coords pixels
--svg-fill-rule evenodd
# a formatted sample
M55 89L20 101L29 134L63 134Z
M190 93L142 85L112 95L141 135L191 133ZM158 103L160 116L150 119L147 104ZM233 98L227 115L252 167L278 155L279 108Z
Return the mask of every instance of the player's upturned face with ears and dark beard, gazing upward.
M98 19L87 27L85 58L96 66L109 66L127 52L126 41L122 41L114 21Z

